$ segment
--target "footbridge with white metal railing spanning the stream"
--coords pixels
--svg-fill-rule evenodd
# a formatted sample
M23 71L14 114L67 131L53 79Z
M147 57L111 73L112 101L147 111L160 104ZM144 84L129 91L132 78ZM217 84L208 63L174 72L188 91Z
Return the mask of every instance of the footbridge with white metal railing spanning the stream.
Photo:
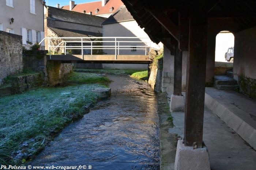
M150 64L151 40L142 37L45 37L48 60Z

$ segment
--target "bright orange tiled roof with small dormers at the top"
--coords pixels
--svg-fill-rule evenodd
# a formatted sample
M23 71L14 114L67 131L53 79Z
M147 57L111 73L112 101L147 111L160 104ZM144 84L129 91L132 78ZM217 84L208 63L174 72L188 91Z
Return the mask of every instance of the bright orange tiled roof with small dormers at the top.
M96 1L90 3L76 4L72 11L83 12L85 10L86 13L92 12L93 15L104 15L115 12L117 8L119 8L121 5L124 5L121 0L109 0L105 4L105 6L102 7L101 1ZM69 10L69 5L65 5L61 8ZM113 8L112 12L109 11L110 8ZM99 9L98 13L95 13L96 9Z

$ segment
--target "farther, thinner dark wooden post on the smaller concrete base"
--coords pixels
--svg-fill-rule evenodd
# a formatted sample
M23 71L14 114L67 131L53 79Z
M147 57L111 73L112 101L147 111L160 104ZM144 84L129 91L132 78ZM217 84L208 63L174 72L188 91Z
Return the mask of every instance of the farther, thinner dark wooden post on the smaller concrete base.
M175 46L174 54L174 84L173 95L181 96L182 90L182 51L178 47L178 43Z

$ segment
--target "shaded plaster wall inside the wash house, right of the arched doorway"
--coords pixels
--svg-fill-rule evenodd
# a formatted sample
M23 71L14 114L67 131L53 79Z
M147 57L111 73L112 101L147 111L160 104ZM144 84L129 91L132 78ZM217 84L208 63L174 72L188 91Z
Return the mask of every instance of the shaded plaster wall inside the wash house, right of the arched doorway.
M238 80L240 91L256 99L256 27L235 34L234 79Z

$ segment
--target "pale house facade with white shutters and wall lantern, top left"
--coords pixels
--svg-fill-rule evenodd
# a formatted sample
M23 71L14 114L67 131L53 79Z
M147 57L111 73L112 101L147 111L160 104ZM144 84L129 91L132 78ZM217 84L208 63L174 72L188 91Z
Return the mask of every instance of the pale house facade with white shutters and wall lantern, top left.
M0 0L0 16L0 31L21 35L27 49L44 39L43 0Z

